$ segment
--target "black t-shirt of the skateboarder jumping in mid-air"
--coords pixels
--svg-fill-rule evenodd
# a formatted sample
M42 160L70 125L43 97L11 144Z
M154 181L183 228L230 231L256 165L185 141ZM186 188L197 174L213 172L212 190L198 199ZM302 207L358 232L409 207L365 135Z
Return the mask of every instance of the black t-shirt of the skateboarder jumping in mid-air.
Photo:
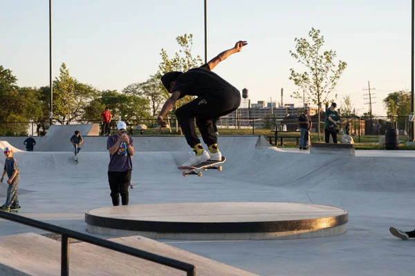
M219 75L216 75L209 68L208 63L203 64L199 68L193 68L178 77L173 91L180 91L181 95L178 99L185 95L201 96L208 93L218 93L226 95L229 91L236 91L228 81L225 81Z

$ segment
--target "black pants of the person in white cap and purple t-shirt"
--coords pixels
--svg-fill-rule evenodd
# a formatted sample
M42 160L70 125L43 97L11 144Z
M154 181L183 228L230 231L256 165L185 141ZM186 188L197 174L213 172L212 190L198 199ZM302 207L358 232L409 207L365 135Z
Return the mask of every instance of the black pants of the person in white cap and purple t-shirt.
M128 188L131 181L131 170L108 172L108 181L113 206L120 205L120 195L122 205L128 205Z

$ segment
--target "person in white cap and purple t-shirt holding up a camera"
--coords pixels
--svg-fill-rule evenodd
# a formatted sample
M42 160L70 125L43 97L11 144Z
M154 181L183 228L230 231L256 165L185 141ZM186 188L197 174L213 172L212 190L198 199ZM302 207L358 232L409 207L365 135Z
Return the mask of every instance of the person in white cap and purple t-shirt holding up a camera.
M109 151L108 182L113 206L120 205L120 195L122 205L128 205L129 202L128 188L131 181L131 170L133 169L134 146L133 138L127 135L126 129L127 124L119 121L117 134L111 135L107 139L107 149Z

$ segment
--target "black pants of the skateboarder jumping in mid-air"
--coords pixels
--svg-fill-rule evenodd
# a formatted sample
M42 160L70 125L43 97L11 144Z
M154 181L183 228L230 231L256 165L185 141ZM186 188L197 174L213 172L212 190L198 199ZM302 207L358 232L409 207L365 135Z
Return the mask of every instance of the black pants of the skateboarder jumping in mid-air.
M201 142L196 135L194 118L196 118L196 125L205 144L208 146L216 144L218 139L214 134L212 120L237 110L240 104L241 94L235 89L224 93L212 92L211 94L205 94L178 108L176 117L186 137L187 144L193 148Z

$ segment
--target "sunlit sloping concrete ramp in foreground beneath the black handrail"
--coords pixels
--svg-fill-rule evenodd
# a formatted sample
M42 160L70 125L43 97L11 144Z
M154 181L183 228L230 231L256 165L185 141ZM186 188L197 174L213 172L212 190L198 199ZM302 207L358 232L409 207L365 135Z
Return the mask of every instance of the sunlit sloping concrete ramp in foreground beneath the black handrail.
M111 239L196 266L196 275L255 275L141 236ZM26 233L0 237L0 275L60 275L61 243ZM185 272L84 242L70 245L69 275L185 275Z

